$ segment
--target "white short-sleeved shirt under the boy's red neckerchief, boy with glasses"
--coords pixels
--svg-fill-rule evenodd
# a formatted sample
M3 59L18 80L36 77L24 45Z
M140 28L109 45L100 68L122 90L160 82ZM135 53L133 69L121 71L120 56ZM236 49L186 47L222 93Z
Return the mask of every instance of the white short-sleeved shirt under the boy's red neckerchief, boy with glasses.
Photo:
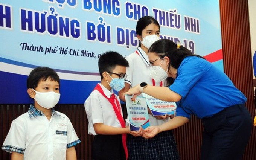
M110 91L105 88L103 85L98 83L102 88L104 94L110 98L112 94L114 94L113 90ZM120 104L119 97L114 94ZM115 101L116 102L116 101ZM88 134L97 135L93 125L95 123L103 123L104 125L113 126L113 127L122 127L119 120L117 119L116 113L112 107L112 104L105 98L99 91L93 90L90 96L84 102L84 108L88 119ZM122 108L120 110L121 115Z

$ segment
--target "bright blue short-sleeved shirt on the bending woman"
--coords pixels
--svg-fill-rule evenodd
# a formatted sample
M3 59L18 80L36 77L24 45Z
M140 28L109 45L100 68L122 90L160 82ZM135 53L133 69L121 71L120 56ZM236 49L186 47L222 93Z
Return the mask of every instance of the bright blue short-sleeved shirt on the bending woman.
M188 56L177 69L177 78L169 87L180 94L176 116L190 119L214 114L236 104L244 104L246 97L230 81L225 73L205 59Z

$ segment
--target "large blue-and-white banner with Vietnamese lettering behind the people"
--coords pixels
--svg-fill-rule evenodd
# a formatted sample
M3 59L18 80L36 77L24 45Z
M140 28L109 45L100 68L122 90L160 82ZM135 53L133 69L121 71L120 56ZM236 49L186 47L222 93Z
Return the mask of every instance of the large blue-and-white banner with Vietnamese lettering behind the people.
M223 70L219 1L1 0L0 104L27 104L27 75L56 70L62 104L83 104L100 81L99 56L127 56L138 46L136 23L151 15L160 38L180 42Z

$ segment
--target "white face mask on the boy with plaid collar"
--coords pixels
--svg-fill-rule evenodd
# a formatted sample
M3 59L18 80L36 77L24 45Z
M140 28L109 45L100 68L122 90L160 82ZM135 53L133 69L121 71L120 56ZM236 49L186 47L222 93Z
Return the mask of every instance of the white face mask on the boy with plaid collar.
M34 90L34 89L32 89ZM35 91L35 90L34 90ZM61 94L51 92L38 92L35 91L35 101L41 106L46 109L53 108L58 102Z

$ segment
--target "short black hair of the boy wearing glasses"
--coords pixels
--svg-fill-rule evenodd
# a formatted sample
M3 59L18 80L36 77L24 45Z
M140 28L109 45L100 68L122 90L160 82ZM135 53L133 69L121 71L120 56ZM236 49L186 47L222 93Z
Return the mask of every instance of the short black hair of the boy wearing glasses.
M103 53L99 57L99 73L101 75L101 79L103 79L103 72L112 72L114 68L119 66L129 67L128 61L119 53L114 51L108 51Z

